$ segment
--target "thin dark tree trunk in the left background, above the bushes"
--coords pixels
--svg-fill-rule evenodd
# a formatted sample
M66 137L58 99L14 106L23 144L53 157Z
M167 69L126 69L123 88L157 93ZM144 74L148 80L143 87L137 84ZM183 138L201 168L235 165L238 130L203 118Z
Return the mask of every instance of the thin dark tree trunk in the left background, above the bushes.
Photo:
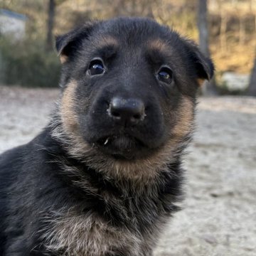
M48 1L48 22L47 22L47 36L46 36L46 50L53 49L53 26L55 16L55 0Z

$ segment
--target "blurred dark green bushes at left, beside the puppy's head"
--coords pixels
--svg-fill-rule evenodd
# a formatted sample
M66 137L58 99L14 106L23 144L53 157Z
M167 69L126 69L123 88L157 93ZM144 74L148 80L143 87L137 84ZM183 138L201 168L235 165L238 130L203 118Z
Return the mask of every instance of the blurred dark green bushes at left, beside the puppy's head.
M9 38L0 38L1 83L26 87L56 87L60 64L53 50L44 50L44 42L23 41L11 43Z

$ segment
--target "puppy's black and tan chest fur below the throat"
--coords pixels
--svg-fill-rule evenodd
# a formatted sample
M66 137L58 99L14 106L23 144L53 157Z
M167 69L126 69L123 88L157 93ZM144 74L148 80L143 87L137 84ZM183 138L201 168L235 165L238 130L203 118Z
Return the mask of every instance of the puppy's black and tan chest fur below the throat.
M68 256L150 256L161 226L176 210L178 176L164 173L163 188L134 191L124 184L115 187L89 171L85 174L71 181L82 189L83 199L46 218L42 239L47 251Z

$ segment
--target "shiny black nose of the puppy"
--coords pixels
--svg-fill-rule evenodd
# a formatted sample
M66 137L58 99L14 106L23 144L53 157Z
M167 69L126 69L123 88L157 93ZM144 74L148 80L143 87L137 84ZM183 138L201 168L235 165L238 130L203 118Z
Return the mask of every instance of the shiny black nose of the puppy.
M138 99L114 97L107 111L115 121L124 122L124 124L137 124L145 117L144 103Z

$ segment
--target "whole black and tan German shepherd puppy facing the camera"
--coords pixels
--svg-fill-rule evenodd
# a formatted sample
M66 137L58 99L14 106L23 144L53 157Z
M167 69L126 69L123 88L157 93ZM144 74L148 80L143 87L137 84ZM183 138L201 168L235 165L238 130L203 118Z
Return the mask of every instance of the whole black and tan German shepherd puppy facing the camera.
M0 255L152 255L213 63L147 18L85 23L56 48L50 124L0 156Z

